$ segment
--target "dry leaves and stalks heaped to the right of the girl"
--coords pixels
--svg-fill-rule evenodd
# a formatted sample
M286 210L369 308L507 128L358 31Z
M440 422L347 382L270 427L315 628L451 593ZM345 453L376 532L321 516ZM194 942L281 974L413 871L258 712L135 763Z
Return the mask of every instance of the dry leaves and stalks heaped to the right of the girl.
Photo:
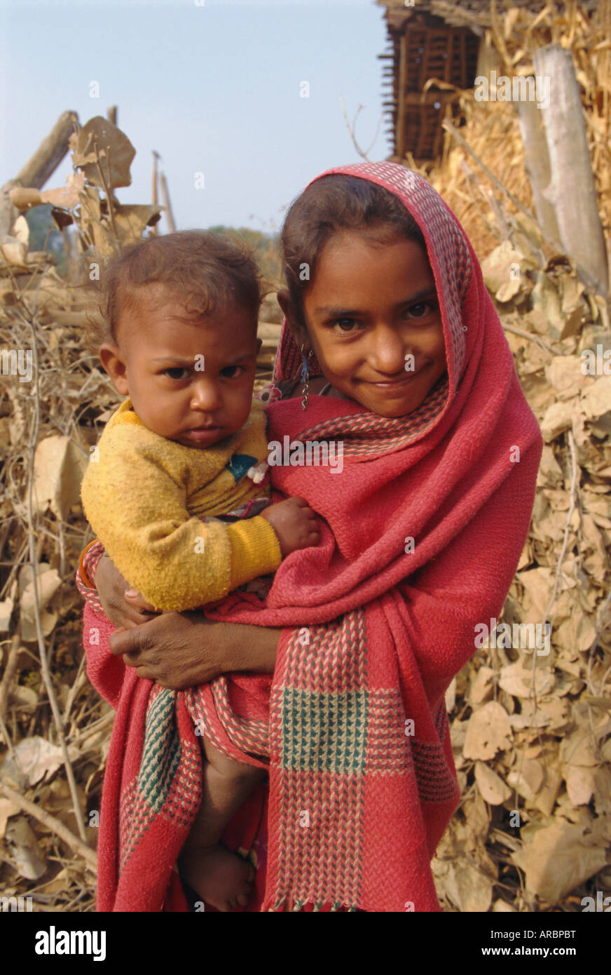
M532 48L552 40L553 5L528 34L531 13L514 8L510 15L507 51L525 68ZM554 40L569 46L566 21L554 29ZM608 91L610 56L589 51L588 20L573 20L571 29L608 230L608 118L606 128L600 123L609 102L594 96ZM461 135L532 211L513 107L461 104ZM492 862L491 911L581 911L583 896L611 888L608 309L449 138L429 177L477 254L486 255L484 281L545 440L532 524L502 619L551 625L549 652L483 647L454 683L448 710L464 795L434 860L439 898L444 910L467 910L461 878L469 877L483 902Z

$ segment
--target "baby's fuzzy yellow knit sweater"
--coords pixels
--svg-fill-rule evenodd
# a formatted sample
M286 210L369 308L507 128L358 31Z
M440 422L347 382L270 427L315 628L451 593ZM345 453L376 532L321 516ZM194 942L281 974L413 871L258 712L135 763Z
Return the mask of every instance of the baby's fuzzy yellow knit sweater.
M148 603L165 611L193 609L274 572L282 561L278 537L264 518L234 524L199 518L268 495L246 476L264 460L265 414L258 400L238 433L210 448L192 448L149 430L128 398L93 453L81 487L83 507L108 556Z

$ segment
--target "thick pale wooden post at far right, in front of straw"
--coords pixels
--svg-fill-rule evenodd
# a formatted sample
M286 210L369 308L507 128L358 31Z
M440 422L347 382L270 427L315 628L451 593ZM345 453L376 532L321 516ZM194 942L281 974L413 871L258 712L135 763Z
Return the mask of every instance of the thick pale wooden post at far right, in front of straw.
M560 242L606 297L609 272L596 200L584 109L570 51L559 44L534 54L535 74L550 79L549 105L540 109L550 159L544 195L554 208Z

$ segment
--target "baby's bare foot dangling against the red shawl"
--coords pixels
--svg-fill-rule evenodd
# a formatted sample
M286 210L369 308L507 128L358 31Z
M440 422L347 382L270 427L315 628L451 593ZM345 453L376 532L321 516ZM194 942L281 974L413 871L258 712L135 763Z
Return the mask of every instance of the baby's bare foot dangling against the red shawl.
M223 843L183 849L179 863L181 877L218 911L233 911L248 904L254 867Z

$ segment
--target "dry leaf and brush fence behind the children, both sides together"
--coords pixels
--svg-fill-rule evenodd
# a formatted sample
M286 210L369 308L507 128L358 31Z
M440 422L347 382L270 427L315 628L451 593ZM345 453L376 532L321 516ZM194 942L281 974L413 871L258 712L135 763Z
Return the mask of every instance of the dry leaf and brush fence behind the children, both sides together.
M531 206L513 107L480 108L462 132ZM604 188L611 168L601 144L596 135L595 172ZM106 120L91 120L72 148L79 172L65 189L47 192L57 194L57 219L77 225L80 260L87 263L139 239L159 208L115 199L112 190L130 184L134 148ZM488 255L486 284L546 440L532 525L503 620L547 620L552 627L545 655L484 647L448 690L463 800L434 860L439 898L448 911L580 910L583 894L611 882L611 377L584 370L592 356L597 364L605 361L611 331L570 263L552 255L542 265L537 228L502 199L491 202L462 150L448 151L430 176L477 254ZM27 245L19 221L0 242L0 345L29 348L35 340L40 364L37 397L13 376L0 390L0 561L12 566L0 569L0 638L7 631L13 636L3 643L10 679L0 685L0 717L10 718L4 725L10 740L0 726L0 787L3 777L19 783L76 837L88 812L99 807L112 722L82 668L82 602L73 574L91 534L78 485L100 424L118 398L85 349L82 321L91 309L57 276L51 259L28 252ZM282 322L273 298L261 318L259 365L269 370ZM31 457L24 454L27 443L35 447ZM28 518L38 608L26 565ZM40 682L37 619L53 657L76 799ZM92 909L91 877L81 858L53 828L22 815L16 801L1 795L0 840L0 882L9 896L36 885L41 903ZM87 840L95 845L95 828L88 828Z

